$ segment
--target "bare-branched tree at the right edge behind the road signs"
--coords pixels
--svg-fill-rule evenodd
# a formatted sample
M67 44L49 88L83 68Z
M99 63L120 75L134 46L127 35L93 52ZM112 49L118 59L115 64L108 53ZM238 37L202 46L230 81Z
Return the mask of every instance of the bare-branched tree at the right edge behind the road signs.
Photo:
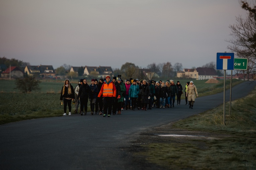
M235 52L240 58L248 58L247 73L256 72L256 6L249 6L246 1L240 1L241 7L249 11L247 17L236 17L236 24L230 25L232 45L228 45L228 49Z

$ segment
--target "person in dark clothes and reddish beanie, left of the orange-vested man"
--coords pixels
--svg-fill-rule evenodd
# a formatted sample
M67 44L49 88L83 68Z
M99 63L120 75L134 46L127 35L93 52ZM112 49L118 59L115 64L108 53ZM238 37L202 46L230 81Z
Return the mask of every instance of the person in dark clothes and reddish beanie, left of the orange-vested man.
M99 89L97 85L95 85L95 79L91 79L90 92L89 92L89 101L91 107L91 115L94 113L96 99L98 97ZM95 112L97 114L97 112Z

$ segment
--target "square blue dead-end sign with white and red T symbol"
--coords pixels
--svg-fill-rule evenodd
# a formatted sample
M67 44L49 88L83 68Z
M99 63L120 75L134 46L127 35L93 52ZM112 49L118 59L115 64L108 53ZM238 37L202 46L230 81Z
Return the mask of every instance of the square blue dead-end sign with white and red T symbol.
M217 70L234 70L234 53L217 53Z

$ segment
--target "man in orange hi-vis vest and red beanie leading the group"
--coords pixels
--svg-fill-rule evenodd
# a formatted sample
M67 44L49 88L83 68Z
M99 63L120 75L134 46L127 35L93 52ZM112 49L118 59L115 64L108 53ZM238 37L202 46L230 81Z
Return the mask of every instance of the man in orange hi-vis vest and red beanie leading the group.
M100 98L101 95L103 96L103 117L110 117L112 111L112 103L116 96L116 88L114 83L110 80L110 76L106 76L106 82L102 84L98 98Z

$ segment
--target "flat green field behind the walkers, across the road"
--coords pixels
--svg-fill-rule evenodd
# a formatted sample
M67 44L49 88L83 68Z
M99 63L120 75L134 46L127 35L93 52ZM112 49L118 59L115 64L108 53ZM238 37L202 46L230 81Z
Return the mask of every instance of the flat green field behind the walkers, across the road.
M180 80L183 89L189 80ZM197 87L199 97L211 95L223 91L223 80L217 84L205 83L207 80L193 80ZM177 81L175 81L177 82ZM233 80L233 86L242 81ZM44 80L41 81L39 87L40 92L31 92L27 94L20 93L15 89L15 80L0 79L0 124L16 122L26 119L36 119L44 117L62 116L63 106L60 102L60 92L64 84L64 80ZM78 82L71 81L73 87ZM227 89L229 89L230 80L227 80ZM184 92L184 90L183 90ZM184 99L182 95L181 99ZM75 106L72 105L72 113ZM88 112L90 107L88 104Z

